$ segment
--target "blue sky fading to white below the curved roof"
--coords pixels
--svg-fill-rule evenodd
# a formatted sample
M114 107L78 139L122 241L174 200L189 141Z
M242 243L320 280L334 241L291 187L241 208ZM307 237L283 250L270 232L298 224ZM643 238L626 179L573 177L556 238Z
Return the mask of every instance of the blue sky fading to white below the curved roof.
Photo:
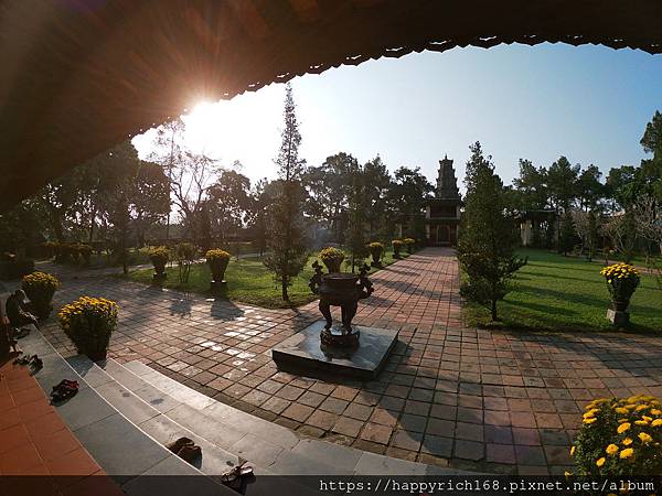
M434 182L438 160L455 159L461 183L469 144L479 140L504 182L526 158L548 166L639 164L639 140L662 111L662 55L563 44L455 48L370 61L292 80L301 157L319 165L339 151L364 162L382 157L394 171L420 166ZM229 101L197 105L186 142L235 160L252 180L274 177L284 85ZM146 155L153 134L134 143Z

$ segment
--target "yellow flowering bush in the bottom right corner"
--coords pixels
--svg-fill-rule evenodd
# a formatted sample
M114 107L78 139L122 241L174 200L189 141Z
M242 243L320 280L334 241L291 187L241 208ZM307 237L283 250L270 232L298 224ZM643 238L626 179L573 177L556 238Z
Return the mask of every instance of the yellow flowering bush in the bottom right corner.
M655 475L662 473L661 444L662 403L658 398L601 398L586 407L570 455L580 476Z

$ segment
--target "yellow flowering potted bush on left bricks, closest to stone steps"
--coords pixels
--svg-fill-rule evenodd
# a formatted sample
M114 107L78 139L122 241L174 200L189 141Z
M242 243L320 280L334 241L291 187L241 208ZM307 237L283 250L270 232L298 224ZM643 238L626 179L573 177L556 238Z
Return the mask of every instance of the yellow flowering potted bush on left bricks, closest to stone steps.
M98 362L106 358L118 310L117 303L105 298L81 296L63 306L57 319L78 353Z

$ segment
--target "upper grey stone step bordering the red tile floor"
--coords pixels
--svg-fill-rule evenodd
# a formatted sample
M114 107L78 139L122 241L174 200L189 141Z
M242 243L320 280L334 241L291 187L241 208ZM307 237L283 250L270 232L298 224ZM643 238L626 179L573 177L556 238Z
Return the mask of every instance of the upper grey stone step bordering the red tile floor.
M84 378L36 330L19 344L25 354L38 354L43 360L43 368L36 371L34 377L46 395L50 395L52 387L62 379L78 381L78 392L56 406L57 413L87 452L126 494L157 494L157 486L161 479L152 475L162 474L188 476L185 484L184 478L169 484L168 494L235 494L175 456L109 405L95 388L111 388L116 382L100 369L89 367L93 371Z

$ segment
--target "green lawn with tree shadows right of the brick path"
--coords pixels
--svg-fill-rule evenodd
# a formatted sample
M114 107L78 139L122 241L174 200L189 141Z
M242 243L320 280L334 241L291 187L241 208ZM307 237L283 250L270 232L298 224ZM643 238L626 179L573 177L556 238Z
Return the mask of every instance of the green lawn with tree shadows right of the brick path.
M470 326L538 331L611 331L605 317L609 292L600 265L543 250L523 249L528 265L517 272L515 288L499 302L500 322L476 303L463 308ZM651 276L642 276L630 303L629 331L662 333L662 291Z

